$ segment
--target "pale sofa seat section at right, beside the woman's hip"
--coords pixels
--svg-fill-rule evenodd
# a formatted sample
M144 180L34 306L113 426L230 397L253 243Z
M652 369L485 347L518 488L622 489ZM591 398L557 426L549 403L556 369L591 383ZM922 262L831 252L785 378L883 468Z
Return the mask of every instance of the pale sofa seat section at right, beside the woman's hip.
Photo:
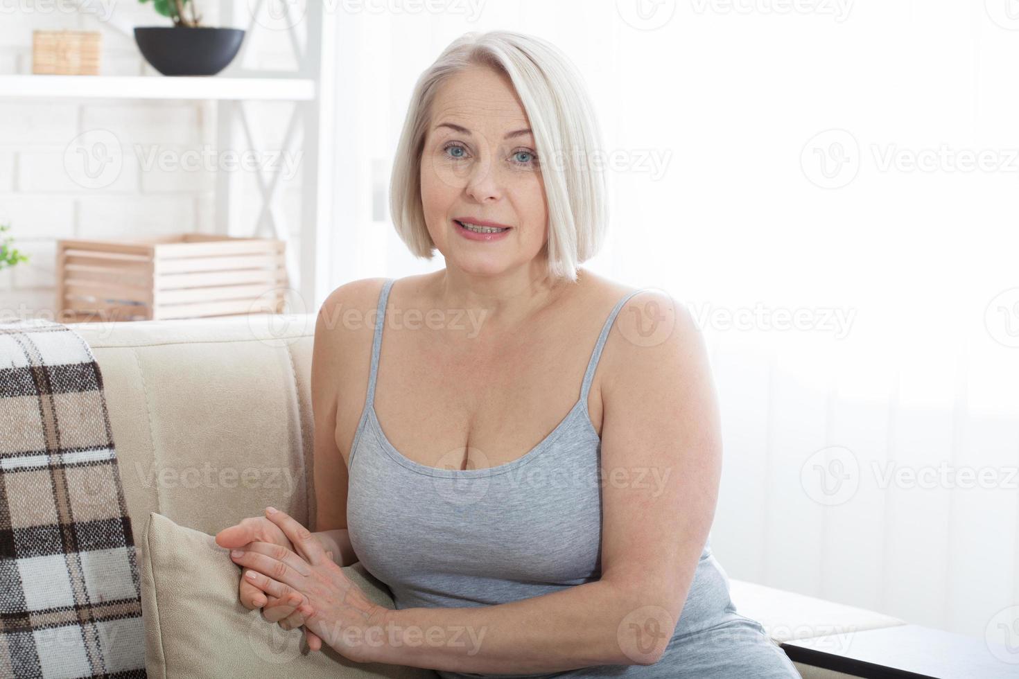
M745 580L730 579L730 599L741 615L758 621L780 643L905 624L899 618L866 609Z

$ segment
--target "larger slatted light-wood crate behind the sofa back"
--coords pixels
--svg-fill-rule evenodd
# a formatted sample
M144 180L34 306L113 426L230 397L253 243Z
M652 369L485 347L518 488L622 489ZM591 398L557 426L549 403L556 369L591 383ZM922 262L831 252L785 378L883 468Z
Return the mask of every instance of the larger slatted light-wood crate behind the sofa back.
M281 314L286 243L187 233L57 240L60 323Z

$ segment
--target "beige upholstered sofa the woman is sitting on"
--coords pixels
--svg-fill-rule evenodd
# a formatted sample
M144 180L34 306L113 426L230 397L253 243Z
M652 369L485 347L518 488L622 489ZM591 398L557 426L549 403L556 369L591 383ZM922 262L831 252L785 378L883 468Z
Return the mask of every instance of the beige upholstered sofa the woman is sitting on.
M139 563L151 512L211 534L272 505L316 529L315 315L70 327L100 364ZM904 624L742 580L731 586L740 613L780 642ZM848 676L797 666L808 679Z

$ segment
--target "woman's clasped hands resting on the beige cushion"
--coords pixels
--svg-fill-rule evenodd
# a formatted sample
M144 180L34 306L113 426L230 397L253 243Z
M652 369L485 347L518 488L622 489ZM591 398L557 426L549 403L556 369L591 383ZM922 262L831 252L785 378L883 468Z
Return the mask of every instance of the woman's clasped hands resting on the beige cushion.
M368 662L363 639L382 623L386 609L369 600L296 519L267 507L265 518L247 518L216 533L216 544L230 549L230 560L242 567L238 590L246 608L262 608L262 616L283 629L304 626L312 650L324 642L355 662Z

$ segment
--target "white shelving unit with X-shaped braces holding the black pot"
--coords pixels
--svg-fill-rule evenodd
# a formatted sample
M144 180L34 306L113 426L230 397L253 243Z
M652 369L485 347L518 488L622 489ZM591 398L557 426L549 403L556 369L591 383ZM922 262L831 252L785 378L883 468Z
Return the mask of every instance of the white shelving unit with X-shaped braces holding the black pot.
M234 64L244 63L253 32L266 31L254 15L263 0L221 0L220 25L245 26L247 35ZM289 5L284 4L286 11ZM291 298L293 312L315 312L329 290L332 225L333 171L332 121L335 107L335 11L325 11L317 0L307 3L306 13L294 21L290 46L299 64L294 72L259 72L231 65L226 76L167 77L111 75L0 75L0 100L50 99L137 99L212 101L216 107L216 142L219 149L259 150L245 111L246 102L294 102L293 114L285 123L283 154L296 152L301 139L302 229L301 249L290 246L290 229L278 206L279 174L259 175L262 202L254 224L238 219L239 201L250 201L236 190L236 173L216 176L216 232L232 236L265 235L287 241L287 274L290 287L300 293ZM231 20L232 19L232 20ZM129 26L110 22L129 35ZM306 29L304 43L298 35ZM140 57L141 58L141 57ZM277 151L277 150L273 150Z

